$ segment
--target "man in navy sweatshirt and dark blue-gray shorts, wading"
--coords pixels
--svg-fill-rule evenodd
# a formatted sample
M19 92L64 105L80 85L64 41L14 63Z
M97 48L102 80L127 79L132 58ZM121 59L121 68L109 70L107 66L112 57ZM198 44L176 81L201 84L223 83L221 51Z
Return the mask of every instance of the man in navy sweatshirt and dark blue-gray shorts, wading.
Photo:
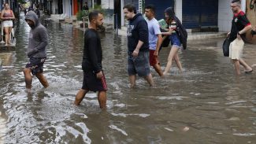
M129 20L128 37L128 76L131 87L135 87L136 74L154 85L150 73L149 43L147 21L141 13L136 13L135 6L124 6L124 16Z

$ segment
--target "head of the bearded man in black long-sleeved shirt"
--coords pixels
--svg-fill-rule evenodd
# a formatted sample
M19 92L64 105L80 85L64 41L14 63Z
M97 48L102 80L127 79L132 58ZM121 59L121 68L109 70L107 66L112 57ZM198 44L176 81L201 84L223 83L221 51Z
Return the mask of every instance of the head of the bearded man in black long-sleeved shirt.
M90 24L95 25L96 27L103 24L103 14L98 10L94 10L89 13Z

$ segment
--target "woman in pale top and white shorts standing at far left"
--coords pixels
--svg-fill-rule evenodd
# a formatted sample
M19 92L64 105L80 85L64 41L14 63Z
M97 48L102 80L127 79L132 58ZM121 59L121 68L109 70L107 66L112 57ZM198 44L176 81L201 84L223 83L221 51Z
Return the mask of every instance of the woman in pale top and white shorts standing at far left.
M1 13L1 20L2 20L2 26L4 28L4 31L6 33L6 46L10 44L10 33L13 28L13 20L15 19L13 10L9 9L9 4L4 4L5 8L2 9Z

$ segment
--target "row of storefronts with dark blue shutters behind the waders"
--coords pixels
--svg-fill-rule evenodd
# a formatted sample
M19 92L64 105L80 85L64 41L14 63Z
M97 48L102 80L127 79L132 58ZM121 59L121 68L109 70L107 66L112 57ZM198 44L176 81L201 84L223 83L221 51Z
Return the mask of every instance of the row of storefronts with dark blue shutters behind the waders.
M144 7L153 4L156 7L156 18L164 19L164 11L172 6L176 16L182 21L188 31L230 31L232 0L41 0L50 2L51 13L76 15L87 2L89 8L101 5L106 11L106 23L113 24L117 20L118 28L125 26L123 7L127 4L135 6L139 13ZM241 0L243 11L246 10L246 0ZM49 7L49 6L48 6ZM116 18L114 18L116 17Z

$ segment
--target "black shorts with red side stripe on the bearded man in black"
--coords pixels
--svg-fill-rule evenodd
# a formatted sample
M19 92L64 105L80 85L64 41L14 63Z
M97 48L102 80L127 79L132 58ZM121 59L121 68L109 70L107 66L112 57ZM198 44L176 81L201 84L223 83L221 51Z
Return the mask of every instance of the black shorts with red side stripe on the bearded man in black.
M106 78L98 79L95 72L83 72L83 90L106 91Z

